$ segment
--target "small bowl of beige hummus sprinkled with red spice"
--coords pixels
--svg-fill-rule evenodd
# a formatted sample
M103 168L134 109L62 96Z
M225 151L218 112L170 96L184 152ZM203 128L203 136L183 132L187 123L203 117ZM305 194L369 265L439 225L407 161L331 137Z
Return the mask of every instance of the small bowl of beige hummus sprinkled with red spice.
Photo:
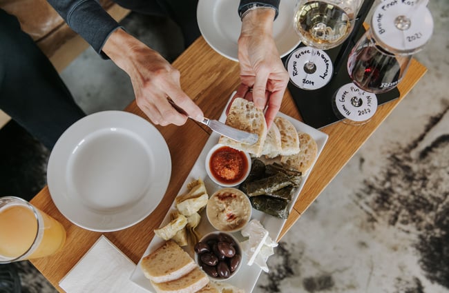
M248 196L237 188L222 188L209 198L206 214L218 231L242 230L251 219L252 207Z

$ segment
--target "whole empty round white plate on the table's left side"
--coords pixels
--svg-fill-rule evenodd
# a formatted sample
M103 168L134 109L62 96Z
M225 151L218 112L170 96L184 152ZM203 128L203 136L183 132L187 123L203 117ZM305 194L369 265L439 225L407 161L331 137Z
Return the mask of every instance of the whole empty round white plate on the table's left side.
M90 114L61 135L48 161L50 196L87 230L128 228L151 214L171 176L169 148L148 121L122 111Z

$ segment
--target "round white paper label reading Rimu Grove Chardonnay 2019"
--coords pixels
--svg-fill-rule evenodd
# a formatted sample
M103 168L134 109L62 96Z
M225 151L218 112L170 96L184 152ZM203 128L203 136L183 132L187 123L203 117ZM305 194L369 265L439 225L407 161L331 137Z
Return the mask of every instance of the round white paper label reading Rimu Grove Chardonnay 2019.
M290 54L287 60L287 71L290 75L290 80L298 88L304 90L317 90L323 88L334 72L332 61L323 50L317 50L316 54L312 56L312 48L301 47ZM307 63L312 61L314 67L307 70Z

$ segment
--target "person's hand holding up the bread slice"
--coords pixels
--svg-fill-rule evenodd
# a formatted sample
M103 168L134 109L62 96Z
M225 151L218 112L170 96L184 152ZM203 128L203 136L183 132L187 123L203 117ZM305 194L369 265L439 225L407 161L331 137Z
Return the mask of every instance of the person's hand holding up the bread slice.
M238 39L241 84L234 95L254 101L259 109L266 108L268 128L279 111L289 81L273 39L274 14L271 8L258 8L242 19Z

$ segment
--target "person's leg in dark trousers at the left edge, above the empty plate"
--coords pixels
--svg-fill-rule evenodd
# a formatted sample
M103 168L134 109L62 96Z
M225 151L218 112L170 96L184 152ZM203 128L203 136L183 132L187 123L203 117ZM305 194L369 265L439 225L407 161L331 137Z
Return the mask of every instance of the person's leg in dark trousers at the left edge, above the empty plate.
M61 134L86 114L45 54L3 10L0 44L0 109L51 150Z

